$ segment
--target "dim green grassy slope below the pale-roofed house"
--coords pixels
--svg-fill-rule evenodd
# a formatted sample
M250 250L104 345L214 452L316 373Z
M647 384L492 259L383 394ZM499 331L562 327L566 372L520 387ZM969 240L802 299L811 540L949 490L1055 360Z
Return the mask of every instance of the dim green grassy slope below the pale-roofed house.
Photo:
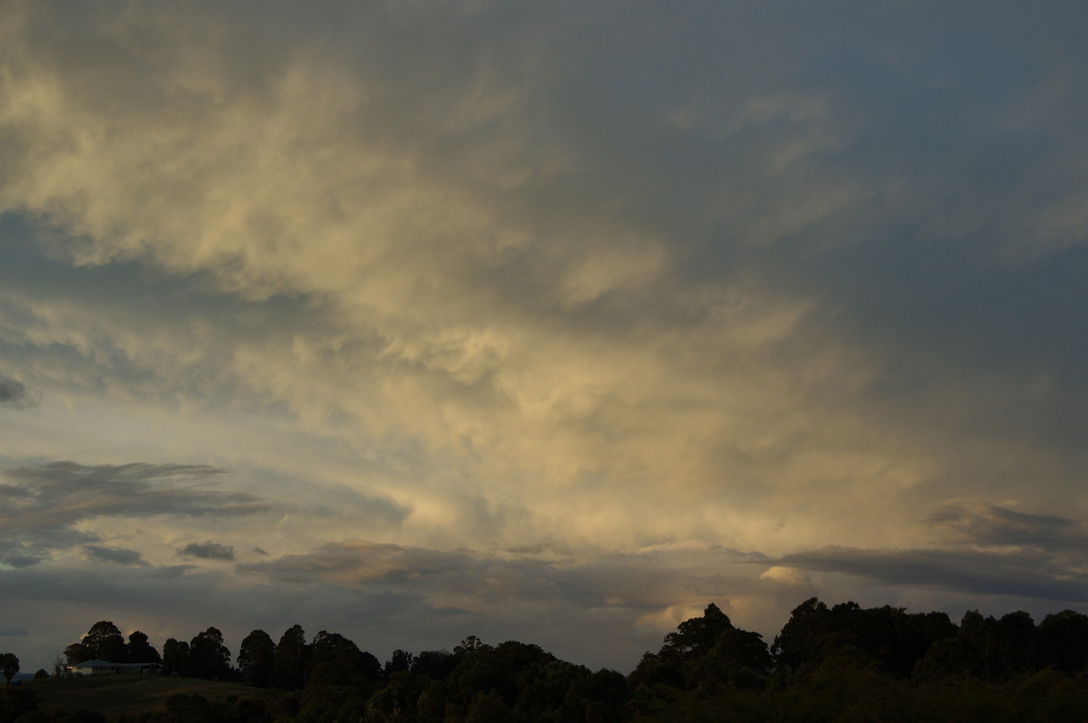
M27 681L24 685L38 696L42 711L101 711L114 721L120 713L161 709L166 698L184 693L200 695L210 701L227 702L234 698L284 697L287 694L254 688L240 683L222 683L191 677L161 675L99 675L77 678Z

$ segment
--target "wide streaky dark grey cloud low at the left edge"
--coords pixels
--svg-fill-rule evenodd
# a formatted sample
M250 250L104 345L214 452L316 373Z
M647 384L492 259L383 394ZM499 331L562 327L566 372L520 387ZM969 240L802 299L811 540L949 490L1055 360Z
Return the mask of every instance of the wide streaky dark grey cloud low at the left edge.
M76 528L103 516L234 518L264 512L259 498L210 489L222 470L190 464L54 462L8 470L0 485L0 562L27 566L76 545L100 541ZM85 548L91 558L136 564L131 550ZM138 553L137 553L138 556Z

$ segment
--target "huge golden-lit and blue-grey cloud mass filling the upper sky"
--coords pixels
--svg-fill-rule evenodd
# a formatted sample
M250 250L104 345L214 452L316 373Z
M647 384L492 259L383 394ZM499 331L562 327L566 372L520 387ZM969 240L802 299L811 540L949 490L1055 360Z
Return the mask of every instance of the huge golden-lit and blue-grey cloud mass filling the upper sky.
M59 386L350 438L399 466L347 484L395 500L373 524L405 544L698 529L781 551L851 541L828 522L848 508L877 512L862 541L902 534L900 493L966 495L987 464L1074 486L1072 439L1060 464L991 452L1085 421L1062 312L1086 302L1083 239L1041 221L1077 208L1055 149L1084 148L1061 90L1081 64L949 17L960 63L912 14L938 7L844 11L850 29L609 10L140 8L88 12L85 46L48 3L13 9L4 208L94 292L15 286L4 338ZM243 26L282 41L239 46ZM162 62L141 62L148 28ZM1025 207L1022 178L1053 198ZM611 512L572 513L571 490Z

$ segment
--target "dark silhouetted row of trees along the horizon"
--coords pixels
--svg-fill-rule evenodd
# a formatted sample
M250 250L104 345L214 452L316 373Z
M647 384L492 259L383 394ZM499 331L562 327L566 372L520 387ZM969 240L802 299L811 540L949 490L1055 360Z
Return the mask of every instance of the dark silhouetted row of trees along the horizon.
M1072 610L1038 624L1023 611L969 611L955 624L943 612L812 598L768 644L712 603L626 676L472 636L452 651L396 650L383 664L336 633L307 640L300 625L279 641L252 631L233 666L214 627L166 640L160 657L146 635L126 644L102 621L64 652L292 691L233 708L175 696L127 723L1088 720L1088 615Z

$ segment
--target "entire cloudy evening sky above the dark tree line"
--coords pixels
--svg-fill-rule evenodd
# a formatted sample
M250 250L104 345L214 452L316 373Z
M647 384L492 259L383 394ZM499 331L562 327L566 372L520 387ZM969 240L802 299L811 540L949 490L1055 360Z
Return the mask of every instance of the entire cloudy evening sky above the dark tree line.
M0 0L0 651L1088 611L1086 34Z

